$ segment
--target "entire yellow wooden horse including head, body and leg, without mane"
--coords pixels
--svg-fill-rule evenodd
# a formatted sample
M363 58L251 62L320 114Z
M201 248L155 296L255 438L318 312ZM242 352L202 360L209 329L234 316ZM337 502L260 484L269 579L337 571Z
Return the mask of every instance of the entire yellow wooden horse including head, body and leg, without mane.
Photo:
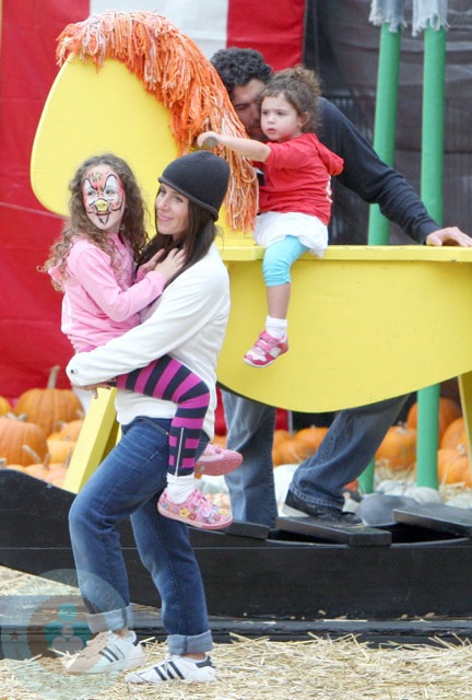
M168 112L118 61L105 61L99 71L69 61L34 142L37 198L67 213L67 184L76 166L107 150L130 163L152 211L157 176L177 153ZM426 246L333 246L322 260L305 255L293 267L288 353L263 370L245 365L267 314L263 250L248 236L225 233L232 312L217 368L222 385L309 412L377 401L472 371L472 250ZM106 393L86 416L67 488L79 490L115 440Z

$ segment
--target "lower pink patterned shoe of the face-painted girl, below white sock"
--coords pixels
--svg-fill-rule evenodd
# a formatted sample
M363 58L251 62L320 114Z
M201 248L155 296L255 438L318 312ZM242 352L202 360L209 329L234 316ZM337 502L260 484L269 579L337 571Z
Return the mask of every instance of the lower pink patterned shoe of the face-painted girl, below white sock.
M233 515L228 509L214 505L198 489L194 489L184 503L176 503L169 499L165 489L157 502L157 510L165 517L201 529L224 529L233 523Z

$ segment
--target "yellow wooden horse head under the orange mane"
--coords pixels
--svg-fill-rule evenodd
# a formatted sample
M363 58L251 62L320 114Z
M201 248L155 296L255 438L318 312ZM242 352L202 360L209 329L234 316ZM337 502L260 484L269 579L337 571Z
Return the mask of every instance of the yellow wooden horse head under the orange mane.
M68 184L88 156L110 151L134 172L150 212L157 177L177 155L169 113L116 60L96 70L67 61L52 84L36 131L31 180L38 200L68 212Z

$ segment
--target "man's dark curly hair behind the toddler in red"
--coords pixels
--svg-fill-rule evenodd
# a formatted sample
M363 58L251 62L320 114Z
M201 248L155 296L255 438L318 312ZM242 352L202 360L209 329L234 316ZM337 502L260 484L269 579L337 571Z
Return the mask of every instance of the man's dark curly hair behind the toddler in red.
M235 88L247 85L255 78L267 83L272 75L272 68L266 63L262 54L253 48L222 48L210 60L229 97Z

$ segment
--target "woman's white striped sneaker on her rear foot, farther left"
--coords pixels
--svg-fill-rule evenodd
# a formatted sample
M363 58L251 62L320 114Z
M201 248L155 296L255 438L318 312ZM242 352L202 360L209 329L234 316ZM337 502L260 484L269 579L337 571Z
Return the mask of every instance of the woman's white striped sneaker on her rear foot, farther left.
M66 661L69 674L108 674L142 666L141 644L134 632L121 637L111 631L101 632L78 654Z

